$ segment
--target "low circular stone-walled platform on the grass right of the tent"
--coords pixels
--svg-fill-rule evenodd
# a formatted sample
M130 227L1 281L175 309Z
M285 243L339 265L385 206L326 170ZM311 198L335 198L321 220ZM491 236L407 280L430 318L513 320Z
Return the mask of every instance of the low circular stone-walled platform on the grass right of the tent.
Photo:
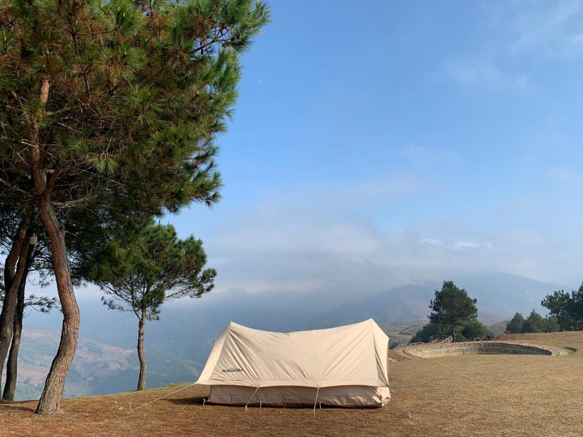
M465 343L425 343L414 344L402 349L405 354L416 358L446 357L448 355L472 354L521 354L521 355L567 355L574 348L547 347L511 341L468 341Z

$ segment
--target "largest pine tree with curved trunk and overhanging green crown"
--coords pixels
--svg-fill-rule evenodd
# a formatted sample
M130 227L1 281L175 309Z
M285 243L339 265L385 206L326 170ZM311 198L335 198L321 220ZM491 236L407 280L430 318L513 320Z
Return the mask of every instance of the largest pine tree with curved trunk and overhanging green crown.
M63 313L37 413L59 409L77 344L69 260L119 220L217 202L215 138L269 16L257 0L1 3L0 204L22 220L11 260L38 222Z

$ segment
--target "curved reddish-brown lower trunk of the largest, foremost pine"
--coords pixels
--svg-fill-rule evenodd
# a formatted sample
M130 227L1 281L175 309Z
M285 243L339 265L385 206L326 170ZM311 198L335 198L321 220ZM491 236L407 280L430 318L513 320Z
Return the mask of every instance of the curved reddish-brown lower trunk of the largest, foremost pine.
M39 209L41 220L43 220L44 228L51 241L52 265L63 313L61 342L57 355L52 361L51 369L44 383L43 394L36 409L37 414L48 414L58 411L61 407L65 378L77 348L80 315L71 281L69 260L67 259L65 231L59 224L57 214L55 214L50 202L41 202Z

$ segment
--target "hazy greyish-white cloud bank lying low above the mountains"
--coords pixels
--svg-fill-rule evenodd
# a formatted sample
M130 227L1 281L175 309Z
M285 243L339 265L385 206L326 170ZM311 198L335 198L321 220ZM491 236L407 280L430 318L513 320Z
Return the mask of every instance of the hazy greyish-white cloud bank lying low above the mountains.
M354 191L326 186L312 191L318 196L310 202L282 192L278 198L285 202L263 202L245 212L224 214L217 237L205 239L209 265L219 260L217 290L347 296L440 280L452 273L501 271L571 283L580 271L573 254L578 253L581 234L563 241L549 234L555 230L546 221L523 224L540 217L533 209L538 199L515 209L504 206L500 212L419 218L397 232L391 223L374 220L370 210L360 213L361 205L348 200ZM339 199L345 200L342 209L333 206Z

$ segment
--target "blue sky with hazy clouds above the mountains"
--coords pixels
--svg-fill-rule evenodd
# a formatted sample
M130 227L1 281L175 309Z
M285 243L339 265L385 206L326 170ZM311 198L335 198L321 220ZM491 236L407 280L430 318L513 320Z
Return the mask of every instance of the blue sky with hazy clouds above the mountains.
M205 241L217 291L583 279L583 2L274 1Z

